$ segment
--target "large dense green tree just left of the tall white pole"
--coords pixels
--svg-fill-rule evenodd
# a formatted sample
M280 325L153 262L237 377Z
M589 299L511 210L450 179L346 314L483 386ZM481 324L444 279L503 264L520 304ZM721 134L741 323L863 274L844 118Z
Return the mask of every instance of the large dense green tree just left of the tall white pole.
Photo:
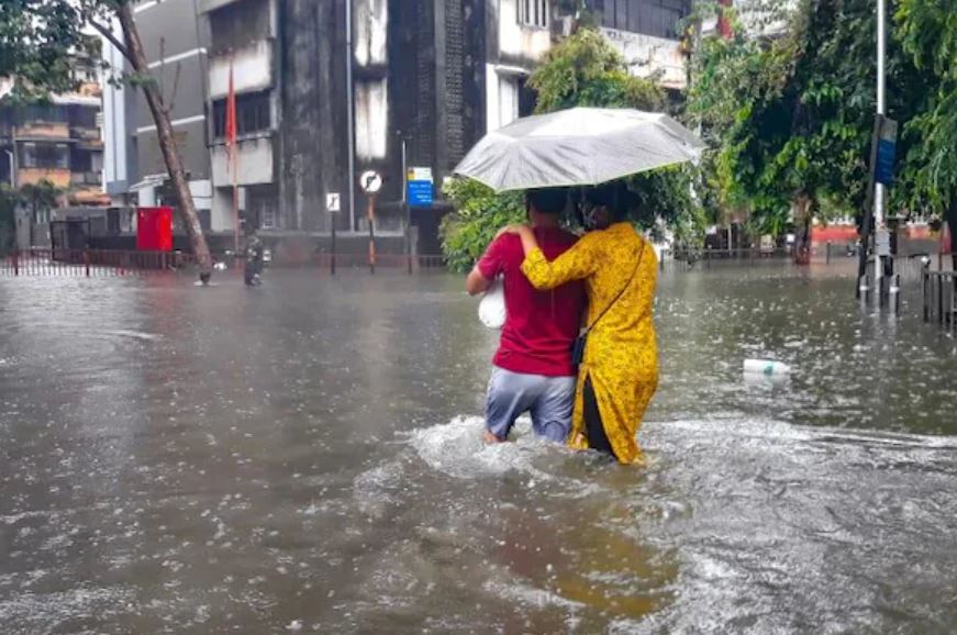
M868 0L802 0L780 37L706 38L692 62L689 111L714 148L724 205L755 224L852 215L864 202L876 101L876 15ZM891 40L889 114L906 120L920 74ZM904 148L906 149L906 148Z

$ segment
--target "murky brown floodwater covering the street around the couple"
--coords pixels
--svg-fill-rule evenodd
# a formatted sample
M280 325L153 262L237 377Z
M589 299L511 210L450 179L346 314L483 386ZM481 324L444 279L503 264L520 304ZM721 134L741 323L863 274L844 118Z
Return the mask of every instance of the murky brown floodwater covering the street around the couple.
M957 344L847 274L666 274L641 469L479 443L459 278L0 279L0 632L954 632Z

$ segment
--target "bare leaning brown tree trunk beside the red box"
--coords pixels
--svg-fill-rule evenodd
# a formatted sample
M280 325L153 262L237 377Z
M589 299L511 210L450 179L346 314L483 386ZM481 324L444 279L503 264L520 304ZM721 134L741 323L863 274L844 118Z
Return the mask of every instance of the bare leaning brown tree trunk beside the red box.
M123 27L123 40L126 43L133 70L138 75L146 76L149 73L149 66L146 62L146 54L143 51L143 43L140 41L140 32L136 30L136 23L133 21L132 3L123 2L120 4L118 14L120 25ZM202 225L200 225L196 204L189 191L186 170L182 168L182 161L179 159L176 138L173 136L173 124L169 123L169 113L163 107L163 97L157 92L155 83L145 82L143 85L143 94L146 97L146 103L153 113L153 121L156 122L159 149L163 152L163 159L166 163L166 169L169 172L173 188L176 191L176 198L179 201L179 212L182 216L182 224L186 226L186 233L189 235L192 253L199 261L199 277L205 283L212 276L212 256L210 256L210 248L207 245L205 236L202 234Z

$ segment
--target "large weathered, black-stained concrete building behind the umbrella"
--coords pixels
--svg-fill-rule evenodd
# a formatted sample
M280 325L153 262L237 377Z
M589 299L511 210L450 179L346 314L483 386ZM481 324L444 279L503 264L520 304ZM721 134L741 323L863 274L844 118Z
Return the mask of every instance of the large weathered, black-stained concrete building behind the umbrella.
M534 96L525 82L571 26L549 0L348 1L137 4L207 231L232 232L235 182L242 222L271 239L322 244L335 225L343 245L361 244L369 201L357 175L375 170L383 178L377 235L401 237L408 222L419 253L437 253L438 223L448 210L443 179L487 131L531 113ZM685 81L677 23L690 4L587 2L636 75L676 89ZM225 147L231 75L235 175ZM171 201L152 119L132 92L107 90L107 129L123 140L108 134L108 191L124 202ZM407 166L430 168L436 189L435 204L408 218L403 146ZM342 201L335 214L326 211L333 193Z

